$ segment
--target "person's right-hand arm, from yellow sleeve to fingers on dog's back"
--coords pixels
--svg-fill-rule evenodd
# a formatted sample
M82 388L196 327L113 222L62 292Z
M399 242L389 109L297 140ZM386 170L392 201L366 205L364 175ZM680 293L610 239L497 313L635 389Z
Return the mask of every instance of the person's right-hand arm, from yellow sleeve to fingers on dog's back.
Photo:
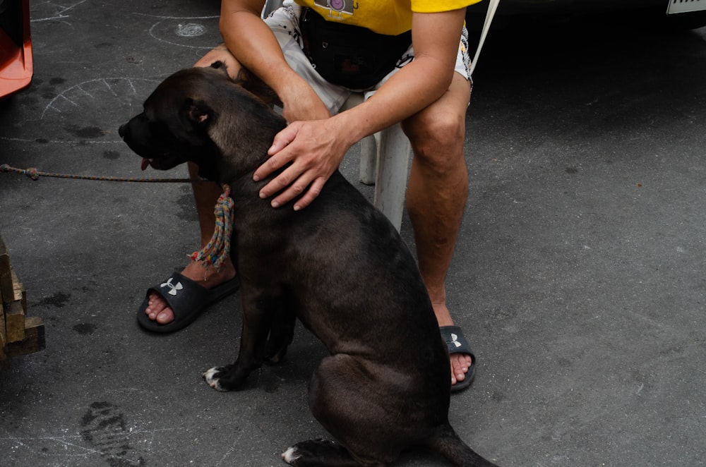
M465 8L443 13L414 13L414 60L395 73L373 97L358 106L319 121L296 121L275 136L270 159L255 172L265 178L292 165L261 190L261 198L279 193L273 207L301 193L295 210L321 193L345 153L367 135L417 114L443 95L451 84ZM280 193L281 191L281 193Z

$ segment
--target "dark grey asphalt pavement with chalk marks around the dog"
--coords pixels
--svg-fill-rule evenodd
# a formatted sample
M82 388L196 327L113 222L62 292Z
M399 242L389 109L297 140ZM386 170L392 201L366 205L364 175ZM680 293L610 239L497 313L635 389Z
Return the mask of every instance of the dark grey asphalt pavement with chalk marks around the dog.
M117 128L218 42L217 15L32 4L35 80L0 102L0 163L140 176ZM502 466L702 465L706 30L577 24L493 31L477 68L448 295L479 368L450 419ZM355 178L355 151L342 169ZM145 289L196 246L189 186L0 174L0 234L47 328L44 351L0 372L0 465L277 466L326 435L306 405L325 352L308 332L221 394L201 371L237 354L238 296L177 334L136 325Z

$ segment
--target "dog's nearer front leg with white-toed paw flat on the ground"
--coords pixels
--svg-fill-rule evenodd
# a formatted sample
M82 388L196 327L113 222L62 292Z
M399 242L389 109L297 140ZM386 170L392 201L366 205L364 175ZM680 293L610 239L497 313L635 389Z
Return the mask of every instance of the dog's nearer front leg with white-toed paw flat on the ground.
M215 367L203 373L203 379L217 391L240 389L253 370L260 368L265 358L265 344L270 321L279 306L276 295L243 293L243 332L240 353L232 365Z

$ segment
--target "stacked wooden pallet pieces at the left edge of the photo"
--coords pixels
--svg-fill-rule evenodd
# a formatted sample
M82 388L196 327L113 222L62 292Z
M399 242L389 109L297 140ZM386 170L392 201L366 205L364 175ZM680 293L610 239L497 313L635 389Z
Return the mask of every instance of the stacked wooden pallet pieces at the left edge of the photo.
M0 369L8 367L8 358L44 348L42 319L26 317L26 310L27 293L0 236Z

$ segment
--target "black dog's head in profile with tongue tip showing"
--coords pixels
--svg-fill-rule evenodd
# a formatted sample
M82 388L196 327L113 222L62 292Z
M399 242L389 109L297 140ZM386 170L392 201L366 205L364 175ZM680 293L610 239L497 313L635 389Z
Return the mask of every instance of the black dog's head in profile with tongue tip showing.
M249 169L247 165L255 164L247 160L248 150L243 150L251 144L237 141L252 141L249 121L257 121L252 114L263 112L269 109L215 63L210 68L187 68L169 76L145 101L142 113L120 127L119 135L143 157L143 170L148 166L167 170L190 161L198 165L204 178L220 180L225 155L237 152L242 159L230 161L230 165L240 163ZM265 146L272 137L269 135ZM261 147L254 150L263 152Z

